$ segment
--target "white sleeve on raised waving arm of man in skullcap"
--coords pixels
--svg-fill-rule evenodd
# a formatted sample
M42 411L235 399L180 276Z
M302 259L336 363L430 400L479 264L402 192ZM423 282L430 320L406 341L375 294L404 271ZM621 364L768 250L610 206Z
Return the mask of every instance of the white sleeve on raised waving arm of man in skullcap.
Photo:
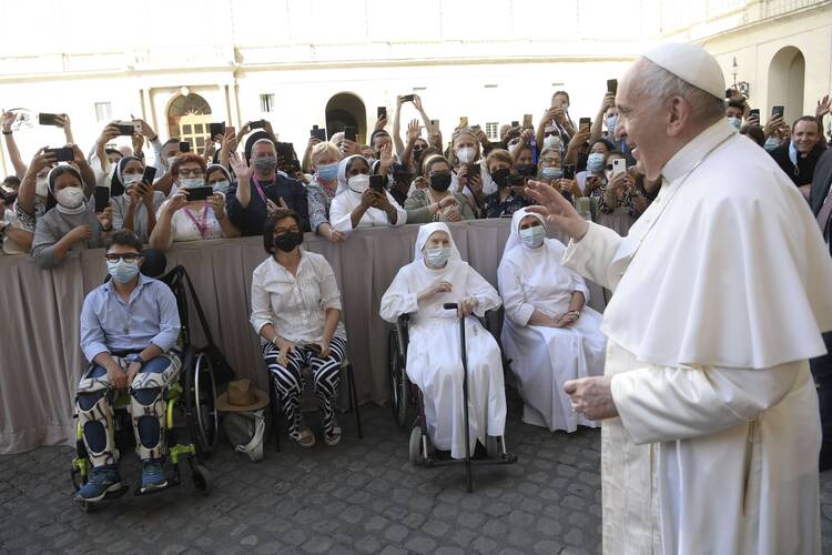
M610 276L610 266L619 244L621 238L618 233L589 222L587 233L580 241L569 241L561 264L603 287L613 289L618 280Z

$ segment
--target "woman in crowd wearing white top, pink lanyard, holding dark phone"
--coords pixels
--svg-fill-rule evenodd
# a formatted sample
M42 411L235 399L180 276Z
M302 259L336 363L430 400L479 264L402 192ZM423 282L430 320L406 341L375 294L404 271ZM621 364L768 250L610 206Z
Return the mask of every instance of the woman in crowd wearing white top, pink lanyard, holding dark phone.
M180 154L171 164L176 179L171 198L160 208L156 225L150 234L153 249L170 249L174 241L237 238L237 230L225 214L225 195L213 192L205 200L189 201L189 191L205 184L205 160L196 154Z

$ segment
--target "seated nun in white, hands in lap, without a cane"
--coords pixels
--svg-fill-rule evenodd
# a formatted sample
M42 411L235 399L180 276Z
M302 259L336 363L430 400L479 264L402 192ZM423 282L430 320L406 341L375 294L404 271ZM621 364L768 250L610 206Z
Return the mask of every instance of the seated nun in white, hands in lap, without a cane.
M541 215L518 210L497 278L506 310L503 347L524 398L522 421L575 432L597 424L571 410L568 380L603 374L601 315L586 306L589 290L564 268L566 246L546 239Z

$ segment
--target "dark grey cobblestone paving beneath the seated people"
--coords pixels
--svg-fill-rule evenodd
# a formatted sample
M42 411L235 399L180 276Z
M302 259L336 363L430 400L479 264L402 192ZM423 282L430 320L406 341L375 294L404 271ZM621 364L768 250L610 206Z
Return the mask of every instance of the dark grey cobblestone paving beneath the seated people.
M283 453L267 448L252 464L223 443L206 463L211 496L199 495L185 471L182 487L128 494L92 514L70 501L69 447L2 456L0 554L598 553L599 432L549 434L520 423L511 405L507 437L519 462L476 467L473 494L463 466L412 466L389 410L366 405L362 441L345 414L337 447L284 441ZM135 485L135 455L121 467ZM824 553L832 553L832 472L821 481Z

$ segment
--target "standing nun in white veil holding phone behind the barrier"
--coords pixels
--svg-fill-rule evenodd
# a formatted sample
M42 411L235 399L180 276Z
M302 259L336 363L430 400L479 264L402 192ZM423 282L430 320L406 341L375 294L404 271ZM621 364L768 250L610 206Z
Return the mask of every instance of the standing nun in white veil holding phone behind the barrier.
M407 212L387 191L369 189L369 164L358 154L338 164L338 189L329 205L329 223L337 231L404 225Z

